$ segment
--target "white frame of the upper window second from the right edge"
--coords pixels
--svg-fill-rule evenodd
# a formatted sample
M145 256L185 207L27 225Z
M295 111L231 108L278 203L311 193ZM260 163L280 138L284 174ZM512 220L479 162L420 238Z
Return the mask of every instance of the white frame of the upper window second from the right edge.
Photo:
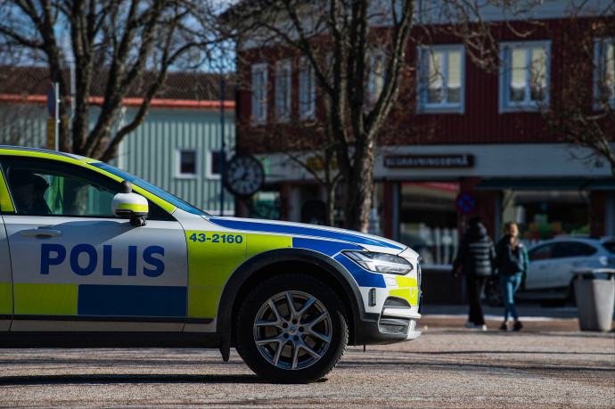
M513 49L526 50L526 80L525 80L525 99L523 101L511 101L511 92L509 89L511 78L511 51ZM531 65L531 50L543 48L546 51L545 63L545 82L546 94L545 100L537 102L531 100L531 77L529 67ZM551 86L551 41L525 41L525 42L505 42L500 45L500 85L499 85L499 113L520 112L520 111L538 111L541 106L545 109L549 106L550 86Z

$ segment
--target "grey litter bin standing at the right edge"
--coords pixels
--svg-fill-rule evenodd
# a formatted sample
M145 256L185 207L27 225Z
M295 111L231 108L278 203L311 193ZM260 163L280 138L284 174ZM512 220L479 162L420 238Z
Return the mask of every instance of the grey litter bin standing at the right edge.
M615 269L581 268L574 274L581 331L611 331L615 309Z

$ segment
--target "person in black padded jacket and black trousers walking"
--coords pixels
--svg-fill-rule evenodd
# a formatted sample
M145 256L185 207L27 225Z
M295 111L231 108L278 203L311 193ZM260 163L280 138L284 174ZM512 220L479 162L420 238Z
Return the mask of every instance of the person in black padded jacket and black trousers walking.
M459 266L465 277L470 311L465 326L487 331L487 324L482 312L480 294L485 289L488 277L493 274L493 261L496 250L493 241L487 235L487 229L482 224L480 216L471 217L468 229L453 261L453 274L457 274Z

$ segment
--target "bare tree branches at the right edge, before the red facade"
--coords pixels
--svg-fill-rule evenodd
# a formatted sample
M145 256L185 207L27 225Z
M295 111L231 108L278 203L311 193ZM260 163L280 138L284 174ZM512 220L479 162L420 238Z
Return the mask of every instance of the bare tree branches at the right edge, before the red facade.
M615 177L615 4L587 12L586 1L570 10L562 29L561 85L541 106L547 129L590 153L579 157L590 166L606 160Z

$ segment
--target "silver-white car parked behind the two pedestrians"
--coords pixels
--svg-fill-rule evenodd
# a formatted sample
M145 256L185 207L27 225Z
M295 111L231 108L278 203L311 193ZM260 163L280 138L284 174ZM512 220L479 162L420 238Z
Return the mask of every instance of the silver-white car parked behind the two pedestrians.
M615 268L615 237L556 237L529 249L528 255L528 276L515 297L562 305L567 300L574 301L574 270ZM502 305L497 280L488 282L485 296L489 305Z

